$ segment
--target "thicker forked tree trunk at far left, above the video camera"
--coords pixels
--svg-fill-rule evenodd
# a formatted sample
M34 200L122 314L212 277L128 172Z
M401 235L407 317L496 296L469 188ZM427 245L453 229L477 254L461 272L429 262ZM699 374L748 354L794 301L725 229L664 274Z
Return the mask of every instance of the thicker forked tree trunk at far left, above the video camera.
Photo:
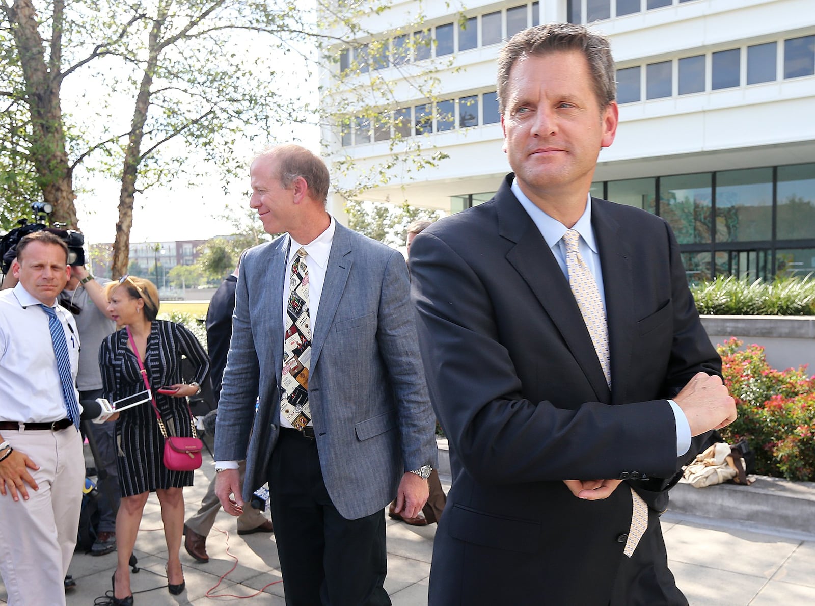
M31 114L33 143L29 154L37 170L37 184L46 202L54 206L53 221L77 227L77 209L73 204L73 174L65 153L65 133L62 108L59 104L60 53L59 33L62 28L63 2L54 3L51 47L51 65L46 63L45 47L37 30L37 15L31 0L15 0L11 7L4 7L15 44L20 56L20 66L25 80L26 102Z

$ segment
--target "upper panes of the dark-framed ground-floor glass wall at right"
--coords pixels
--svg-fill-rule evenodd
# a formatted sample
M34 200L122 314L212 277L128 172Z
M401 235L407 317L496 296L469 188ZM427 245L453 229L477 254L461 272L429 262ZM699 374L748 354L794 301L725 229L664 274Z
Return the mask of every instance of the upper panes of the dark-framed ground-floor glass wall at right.
M815 239L815 163L597 182L592 195L663 217L680 244Z

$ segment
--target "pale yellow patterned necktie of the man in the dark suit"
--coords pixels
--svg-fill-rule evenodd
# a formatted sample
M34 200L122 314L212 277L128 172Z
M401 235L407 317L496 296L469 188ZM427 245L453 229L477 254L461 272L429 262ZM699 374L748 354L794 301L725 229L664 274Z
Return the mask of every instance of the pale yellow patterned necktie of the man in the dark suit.
M606 312L603 309L603 302L600 297L600 290L597 289L591 270L588 269L583 256L578 250L580 234L570 229L563 234L563 242L566 244L566 270L569 272L569 286L575 295L577 307L586 323L588 334L592 338L594 351L597 352L597 359L603 369L603 376L606 383L611 387L611 361L609 355L609 334L608 323L606 322ZM648 528L648 506L639 494L631 489L632 515L631 529L628 531L628 539L625 542L623 553L630 558L637 549L645 529Z

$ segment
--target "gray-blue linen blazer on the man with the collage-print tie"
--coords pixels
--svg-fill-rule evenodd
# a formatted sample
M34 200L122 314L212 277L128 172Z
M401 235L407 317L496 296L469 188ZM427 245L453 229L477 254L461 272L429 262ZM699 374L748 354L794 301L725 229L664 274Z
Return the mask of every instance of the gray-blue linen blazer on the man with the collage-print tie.
M288 250L289 237L280 237L249 250L240 263L215 459L246 458L245 499L267 482L279 434ZM308 391L325 486L348 520L384 507L405 470L436 467L434 414L409 290L398 251L337 223Z

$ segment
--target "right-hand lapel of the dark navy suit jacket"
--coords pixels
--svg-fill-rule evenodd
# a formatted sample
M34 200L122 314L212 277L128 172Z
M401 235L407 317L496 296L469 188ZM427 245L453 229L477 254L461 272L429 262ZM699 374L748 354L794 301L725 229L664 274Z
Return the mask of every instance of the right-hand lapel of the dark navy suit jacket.
M614 216L614 206L592 198L592 228L597 238L603 285L606 291L606 322L609 327L611 356L612 403L626 400L626 379L631 365L634 280L632 258L620 237L621 227Z

